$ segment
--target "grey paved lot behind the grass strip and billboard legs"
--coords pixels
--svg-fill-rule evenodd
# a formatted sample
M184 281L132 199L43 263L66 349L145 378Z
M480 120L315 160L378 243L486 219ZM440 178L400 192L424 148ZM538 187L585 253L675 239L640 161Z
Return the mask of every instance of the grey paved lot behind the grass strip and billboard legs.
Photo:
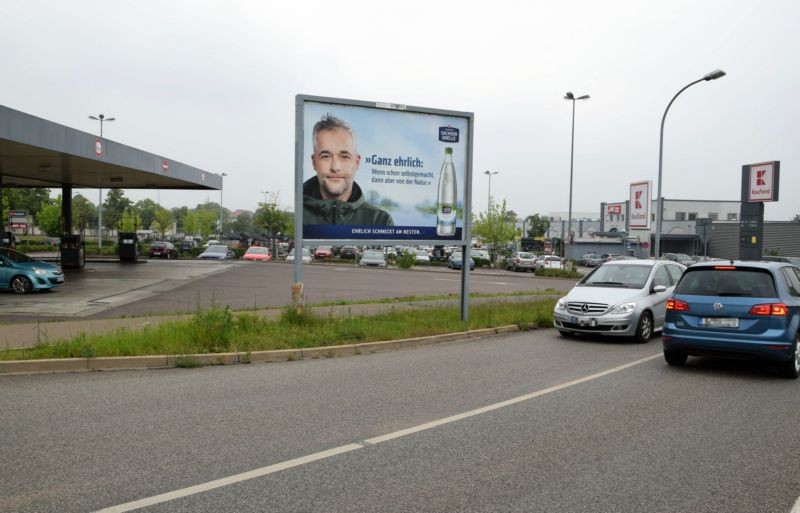
M280 307L291 302L293 267L284 262L152 259L136 264L90 261L84 269L65 273L65 284L49 292L0 292L0 322L189 313L212 303L234 309ZM460 271L439 267L403 271L315 263L304 266L303 281L309 304L460 293ZM478 269L471 276L470 292L566 291L573 284Z

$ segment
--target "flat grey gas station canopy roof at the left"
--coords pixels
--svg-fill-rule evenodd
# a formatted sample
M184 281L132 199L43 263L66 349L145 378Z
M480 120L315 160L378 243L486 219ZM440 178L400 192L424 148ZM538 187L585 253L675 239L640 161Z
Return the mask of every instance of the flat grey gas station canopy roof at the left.
M222 176L0 105L0 186L219 190Z

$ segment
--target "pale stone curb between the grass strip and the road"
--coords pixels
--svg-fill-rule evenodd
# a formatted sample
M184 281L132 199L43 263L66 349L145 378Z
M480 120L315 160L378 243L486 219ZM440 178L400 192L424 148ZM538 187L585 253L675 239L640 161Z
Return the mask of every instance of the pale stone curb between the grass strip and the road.
M523 329L536 329L526 326ZM380 351L393 351L423 347L446 342L473 340L503 333L520 331L517 325L499 326L479 330L445 333L427 337L365 342L308 349L280 349L238 353L211 353L190 355L118 356L99 358L64 358L48 360L0 361L0 375L54 374L65 372L91 372L136 369L164 369L170 367L202 367L207 365L232 365L238 363L270 363L305 359L357 356Z

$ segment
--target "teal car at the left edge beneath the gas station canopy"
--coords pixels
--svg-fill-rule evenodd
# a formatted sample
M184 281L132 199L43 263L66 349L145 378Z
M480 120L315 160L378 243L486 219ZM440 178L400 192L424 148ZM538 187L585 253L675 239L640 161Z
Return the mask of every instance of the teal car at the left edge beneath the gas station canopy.
M61 267L35 260L11 248L0 248L0 288L15 294L27 294L63 284Z

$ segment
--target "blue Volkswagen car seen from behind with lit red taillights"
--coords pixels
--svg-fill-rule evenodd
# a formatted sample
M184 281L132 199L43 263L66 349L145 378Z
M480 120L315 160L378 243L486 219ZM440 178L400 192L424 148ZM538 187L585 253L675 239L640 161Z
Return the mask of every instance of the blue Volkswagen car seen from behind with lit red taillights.
M800 269L785 262L708 262L690 267L667 302L664 359L770 360L800 375Z

